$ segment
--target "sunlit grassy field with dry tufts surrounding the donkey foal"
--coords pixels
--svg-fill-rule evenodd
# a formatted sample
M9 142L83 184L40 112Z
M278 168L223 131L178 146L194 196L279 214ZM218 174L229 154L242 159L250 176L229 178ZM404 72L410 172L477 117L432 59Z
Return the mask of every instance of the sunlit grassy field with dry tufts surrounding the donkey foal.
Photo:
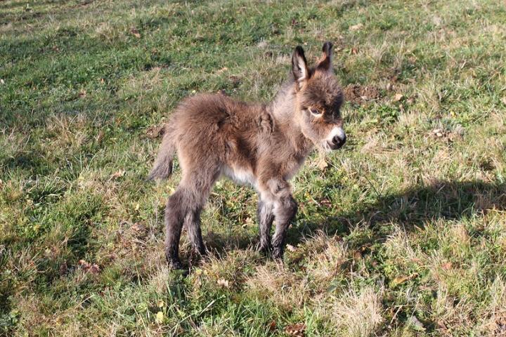
M167 270L181 98L270 100L335 43L349 142L294 178L283 265L221 180ZM0 2L0 335L506 334L503 1Z

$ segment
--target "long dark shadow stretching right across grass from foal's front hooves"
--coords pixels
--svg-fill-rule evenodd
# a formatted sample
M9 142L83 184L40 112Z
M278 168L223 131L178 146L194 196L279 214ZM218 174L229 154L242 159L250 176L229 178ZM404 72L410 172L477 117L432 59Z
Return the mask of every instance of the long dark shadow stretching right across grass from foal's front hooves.
M431 185L379 196L372 204L356 207L356 211L320 222L298 223L290 228L287 243L297 244L301 237L311 237L319 230L327 234L346 235L357 225L372 230L371 241L382 242L391 234L382 230L385 224L411 231L424 227L428 221L471 218L491 210L506 210L505 183L437 180Z

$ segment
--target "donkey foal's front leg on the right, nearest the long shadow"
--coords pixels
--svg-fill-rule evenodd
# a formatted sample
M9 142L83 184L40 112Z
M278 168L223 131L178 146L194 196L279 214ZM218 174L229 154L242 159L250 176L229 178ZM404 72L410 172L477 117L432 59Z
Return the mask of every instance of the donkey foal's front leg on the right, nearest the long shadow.
M272 257L274 259L283 258L286 233L290 226L290 221L292 221L296 213L297 202L295 202L291 194L276 202L274 209L276 227L272 239Z

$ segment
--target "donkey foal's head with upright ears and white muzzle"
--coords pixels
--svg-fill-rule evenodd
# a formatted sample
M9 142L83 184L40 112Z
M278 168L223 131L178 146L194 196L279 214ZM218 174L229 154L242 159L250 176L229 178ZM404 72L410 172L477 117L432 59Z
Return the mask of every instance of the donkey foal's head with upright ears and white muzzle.
M314 145L337 150L346 142L341 117L342 89L332 70L332 44L323 44L323 55L309 68L301 46L292 55L295 79L296 120Z

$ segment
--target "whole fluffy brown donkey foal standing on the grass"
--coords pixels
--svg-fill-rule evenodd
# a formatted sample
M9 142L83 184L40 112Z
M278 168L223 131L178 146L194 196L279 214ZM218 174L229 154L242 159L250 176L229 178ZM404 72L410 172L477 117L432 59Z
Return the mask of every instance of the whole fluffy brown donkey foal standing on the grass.
M193 249L205 253L200 212L214 182L228 176L259 193L260 243L272 257L283 257L290 221L297 213L288 180L314 147L337 150L346 142L339 112L342 89L332 71L332 44L308 67L304 50L292 55L292 75L269 104L244 103L225 95L186 98L165 126L160 152L149 178L167 178L174 154L181 183L165 209L167 261L181 268L179 239L186 226ZM271 240L271 226L275 233Z

